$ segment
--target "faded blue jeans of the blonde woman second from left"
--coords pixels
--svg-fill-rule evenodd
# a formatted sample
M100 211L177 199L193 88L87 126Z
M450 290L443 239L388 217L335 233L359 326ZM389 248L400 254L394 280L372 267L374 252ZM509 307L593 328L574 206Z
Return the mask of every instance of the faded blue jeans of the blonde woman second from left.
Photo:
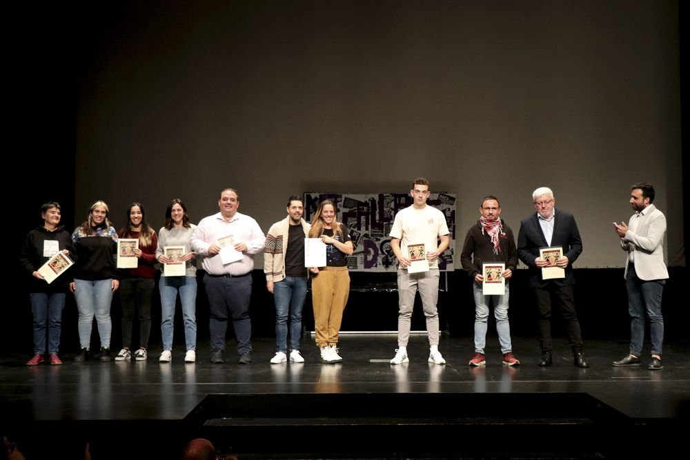
M87 281L75 279L75 300L79 310L79 343L81 348L91 348L91 328L96 317L101 347L110 348L110 301L112 300L112 279Z

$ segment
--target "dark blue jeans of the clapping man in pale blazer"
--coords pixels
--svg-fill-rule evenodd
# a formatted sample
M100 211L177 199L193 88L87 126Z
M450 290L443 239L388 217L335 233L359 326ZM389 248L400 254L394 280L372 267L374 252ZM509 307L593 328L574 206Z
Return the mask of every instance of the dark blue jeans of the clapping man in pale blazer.
M661 315L661 299L665 279L644 281L638 278L635 266L628 266L625 288L628 291L628 311L630 313L630 354L640 356L644 341L644 313L649 317L651 335L651 354L661 356L664 341L664 317Z

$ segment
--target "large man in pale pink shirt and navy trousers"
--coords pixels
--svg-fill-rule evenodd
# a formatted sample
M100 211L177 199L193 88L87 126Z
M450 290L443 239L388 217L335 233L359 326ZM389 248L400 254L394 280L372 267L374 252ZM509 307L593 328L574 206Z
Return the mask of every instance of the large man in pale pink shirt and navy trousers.
M210 318L210 362L223 363L228 319L233 321L240 364L252 362L252 321L249 301L252 296L254 254L264 250L266 237L255 219L237 212L239 195L234 188L221 190L220 212L204 217L192 233L190 244L201 256L204 286L208 295ZM221 241L233 241L230 247ZM239 253L239 259L224 259L226 250ZM229 254L233 256L233 254Z

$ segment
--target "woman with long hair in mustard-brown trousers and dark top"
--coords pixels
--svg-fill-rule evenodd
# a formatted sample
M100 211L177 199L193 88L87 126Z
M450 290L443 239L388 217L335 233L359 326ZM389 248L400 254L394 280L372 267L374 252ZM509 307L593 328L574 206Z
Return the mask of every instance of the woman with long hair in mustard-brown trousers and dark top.
M331 200L319 204L311 221L310 238L320 238L326 244L326 266L311 267L311 300L314 308L316 345L324 363L338 363L338 333L343 312L350 296L350 274L345 256L355 248L347 227L335 219L335 205Z

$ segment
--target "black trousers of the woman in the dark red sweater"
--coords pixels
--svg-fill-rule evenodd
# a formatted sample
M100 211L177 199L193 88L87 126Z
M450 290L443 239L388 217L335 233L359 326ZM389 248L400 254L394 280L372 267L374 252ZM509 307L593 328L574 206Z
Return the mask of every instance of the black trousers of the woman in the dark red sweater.
M155 287L151 278L125 278L120 281L120 303L122 306L122 346L132 346L132 319L137 310L139 317L139 347L148 348L151 334L151 296Z

